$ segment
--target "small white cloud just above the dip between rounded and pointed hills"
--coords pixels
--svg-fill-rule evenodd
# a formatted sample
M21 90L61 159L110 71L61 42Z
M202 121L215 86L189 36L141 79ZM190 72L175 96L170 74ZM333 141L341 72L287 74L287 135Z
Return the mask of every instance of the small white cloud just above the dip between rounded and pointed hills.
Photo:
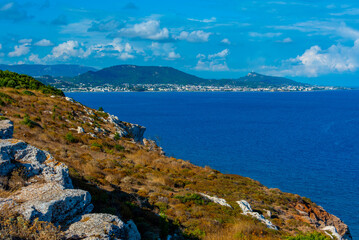
M198 62L194 69L200 71L228 71L226 57L229 54L228 49L224 49L218 53L209 54L198 54Z

